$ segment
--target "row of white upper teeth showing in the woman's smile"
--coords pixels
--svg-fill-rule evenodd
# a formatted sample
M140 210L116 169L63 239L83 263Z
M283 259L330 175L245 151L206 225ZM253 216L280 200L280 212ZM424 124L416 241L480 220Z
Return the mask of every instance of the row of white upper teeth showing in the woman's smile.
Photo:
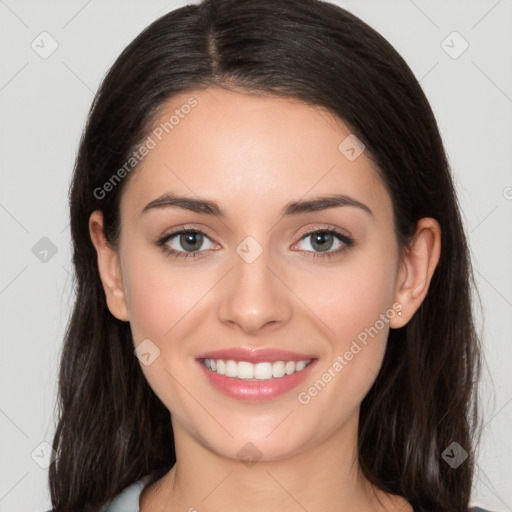
M252 364L248 361L233 361L228 359L204 359L203 363L206 368L227 377L235 377L238 379L258 379L266 380L272 377L278 378L300 372L311 359L304 361L276 361L275 363L256 363Z

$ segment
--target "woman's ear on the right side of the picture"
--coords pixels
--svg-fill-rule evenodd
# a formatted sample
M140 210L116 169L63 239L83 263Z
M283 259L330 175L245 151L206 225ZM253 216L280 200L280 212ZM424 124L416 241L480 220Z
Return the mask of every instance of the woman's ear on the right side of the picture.
M420 307L427 295L440 254L439 223L430 217L420 219L411 243L402 256L395 287L395 300L402 306L401 315L390 319L391 328L403 327Z

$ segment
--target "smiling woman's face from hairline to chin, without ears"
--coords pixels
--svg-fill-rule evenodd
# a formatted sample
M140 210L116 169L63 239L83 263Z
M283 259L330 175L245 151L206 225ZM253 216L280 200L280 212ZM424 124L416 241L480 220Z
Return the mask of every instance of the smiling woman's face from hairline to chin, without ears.
M167 134L160 123L191 97ZM122 296L144 375L173 426L218 454L251 441L277 460L316 446L357 421L381 366L400 268L389 194L322 109L221 89L165 107L121 199ZM154 202L165 194L223 215ZM345 201L290 207L333 195ZM217 376L221 391L198 358L232 348L312 361L272 383ZM282 373L261 375L269 366Z

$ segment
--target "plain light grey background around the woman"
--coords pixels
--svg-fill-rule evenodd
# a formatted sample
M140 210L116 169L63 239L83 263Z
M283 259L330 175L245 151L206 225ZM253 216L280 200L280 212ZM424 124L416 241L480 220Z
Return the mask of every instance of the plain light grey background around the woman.
M47 469L35 460L51 455L41 443L54 432L73 298L67 191L86 113L121 50L186 3L0 0L0 511L50 508ZM512 510L512 2L337 3L402 54L437 116L483 305L486 425L473 503ZM43 31L59 45L47 59L31 47ZM453 31L469 44L458 58ZM32 252L43 237L57 248L46 262Z

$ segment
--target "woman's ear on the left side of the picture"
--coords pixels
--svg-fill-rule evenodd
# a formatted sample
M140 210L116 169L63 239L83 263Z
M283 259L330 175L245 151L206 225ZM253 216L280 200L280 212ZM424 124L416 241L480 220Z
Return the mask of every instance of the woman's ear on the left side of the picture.
M89 217L89 233L98 254L98 271L108 309L119 320L128 321L128 308L121 280L119 255L105 238L103 214L100 210L92 212Z

